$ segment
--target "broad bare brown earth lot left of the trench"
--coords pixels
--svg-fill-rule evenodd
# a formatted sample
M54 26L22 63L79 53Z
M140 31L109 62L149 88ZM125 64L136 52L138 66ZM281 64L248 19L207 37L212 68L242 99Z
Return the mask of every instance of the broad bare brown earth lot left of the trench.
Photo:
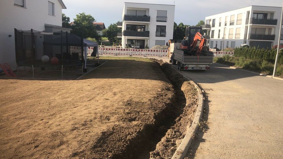
M81 80L0 80L0 158L134 157L126 150L174 97L159 65L141 60L109 60Z

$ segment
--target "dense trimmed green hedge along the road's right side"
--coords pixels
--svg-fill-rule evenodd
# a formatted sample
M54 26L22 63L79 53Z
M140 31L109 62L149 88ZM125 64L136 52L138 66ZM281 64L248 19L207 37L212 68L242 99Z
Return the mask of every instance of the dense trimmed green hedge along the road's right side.
M255 47L244 47L244 48L236 48L234 51L234 56L243 57L246 59L255 59L266 62L275 62L277 49L259 49ZM283 50L280 50L278 57L278 64L283 64Z

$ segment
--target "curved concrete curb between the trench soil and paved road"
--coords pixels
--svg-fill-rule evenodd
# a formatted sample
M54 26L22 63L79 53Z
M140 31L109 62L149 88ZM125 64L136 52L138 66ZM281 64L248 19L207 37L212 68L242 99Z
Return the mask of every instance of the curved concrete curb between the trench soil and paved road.
M165 62L163 60L163 62ZM167 62L166 62L167 63ZM169 64L170 65L170 64ZM173 67L172 65L170 65L171 67ZM174 67L173 67L174 68ZM174 68L175 69L175 68ZM180 74L182 74L182 72L178 71ZM183 77L184 74L182 74ZM195 133L198 131L198 123L200 122L201 117L203 116L203 92L200 89L200 87L198 87L198 85L192 81L191 79L185 77L187 80L190 81L191 84L193 84L195 86L195 88L198 90L198 108L197 111L195 113L195 117L194 120L192 121L192 125L187 125L187 131L186 131L186 135L183 138L181 144L178 146L177 150L175 151L172 159L181 159L181 158L185 158L185 156L187 155L187 152L189 150L189 147L192 143L192 137L195 135Z

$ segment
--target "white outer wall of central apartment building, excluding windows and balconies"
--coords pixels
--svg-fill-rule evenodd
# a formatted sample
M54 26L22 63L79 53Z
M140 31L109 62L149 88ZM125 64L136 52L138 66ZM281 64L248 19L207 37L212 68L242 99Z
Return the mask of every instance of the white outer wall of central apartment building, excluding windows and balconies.
M137 10L146 10L146 14L150 16L150 22L139 22L139 21L123 21L122 31L126 30L126 24L140 24L146 25L146 31L149 31L149 38L142 37L124 37L122 36L122 46L126 47L126 38L127 39L145 39L145 46L151 48L155 45L155 40L164 40L165 44L169 39L173 38L173 29L174 29L174 16L175 16L175 5L163 5L163 4L142 4L142 3L127 3L124 4L122 18L124 14L127 14L127 9L137 9ZM167 22L157 22L157 10L167 10ZM156 37L156 26L157 25L166 25L166 37Z

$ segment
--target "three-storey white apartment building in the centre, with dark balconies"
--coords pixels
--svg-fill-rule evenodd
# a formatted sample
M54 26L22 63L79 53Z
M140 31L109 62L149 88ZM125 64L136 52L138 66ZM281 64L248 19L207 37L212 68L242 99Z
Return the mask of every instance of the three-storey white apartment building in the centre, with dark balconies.
M125 2L118 27L122 47L145 48L165 45L173 38L175 5Z

